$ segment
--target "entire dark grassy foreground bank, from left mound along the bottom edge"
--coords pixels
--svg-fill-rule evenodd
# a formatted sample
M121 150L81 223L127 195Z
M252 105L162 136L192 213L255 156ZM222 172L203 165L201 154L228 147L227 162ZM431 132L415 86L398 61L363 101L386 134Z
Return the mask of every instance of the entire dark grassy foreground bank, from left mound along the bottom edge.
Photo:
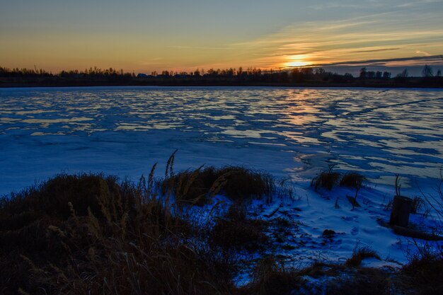
M1 294L443 293L443 250L422 250L401 270L361 267L377 256L368 248L303 269L260 255L272 248L265 230L285 224L248 213L251 199L273 202L266 173L209 167L154 180L154 168L137 184L59 175L1 199ZM190 214L220 192L233 201L227 211ZM251 280L238 287L242 270Z

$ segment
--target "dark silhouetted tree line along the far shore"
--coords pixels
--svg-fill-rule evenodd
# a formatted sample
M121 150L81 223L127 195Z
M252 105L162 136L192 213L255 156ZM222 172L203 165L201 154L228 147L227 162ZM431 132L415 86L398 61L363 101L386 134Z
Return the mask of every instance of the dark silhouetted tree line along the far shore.
M134 74L122 69L89 69L59 71L53 74L44 69L14 68L0 66L0 86L15 84L26 86L52 85L289 85L306 86L397 86L395 83L412 83L414 86L443 86L440 70L434 74L431 66L422 69L422 78L411 77L408 70L392 77L389 71L369 71L363 67L358 76L338 74L321 67L297 67L292 69L195 69L194 71L152 71L150 74Z

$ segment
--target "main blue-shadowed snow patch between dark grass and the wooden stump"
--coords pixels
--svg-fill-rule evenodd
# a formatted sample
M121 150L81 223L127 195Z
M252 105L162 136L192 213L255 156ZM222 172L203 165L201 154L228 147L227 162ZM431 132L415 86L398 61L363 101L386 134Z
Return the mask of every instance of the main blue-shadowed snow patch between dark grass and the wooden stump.
M369 247L383 260L404 263L403 245L408 239L396 236L391 229L377 223L377 219L389 219L389 212L383 206L383 194L372 187L364 187L357 196L362 207L352 210L346 195L354 194L341 187L331 192L314 192L309 183L299 184L295 199L287 199L273 216L297 222L294 245L302 243L304 247L297 246L285 255L306 264L313 260L344 262L355 248ZM336 197L339 208L335 208ZM323 236L326 229L335 231L335 234Z

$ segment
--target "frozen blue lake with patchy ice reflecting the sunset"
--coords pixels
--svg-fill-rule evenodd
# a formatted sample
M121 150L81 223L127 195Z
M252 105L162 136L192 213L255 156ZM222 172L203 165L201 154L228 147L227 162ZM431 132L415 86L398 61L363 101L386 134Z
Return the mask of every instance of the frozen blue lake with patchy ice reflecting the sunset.
M435 183L443 91L361 88L0 88L0 194L57 173L137 180L245 165L311 178L329 163L373 183Z

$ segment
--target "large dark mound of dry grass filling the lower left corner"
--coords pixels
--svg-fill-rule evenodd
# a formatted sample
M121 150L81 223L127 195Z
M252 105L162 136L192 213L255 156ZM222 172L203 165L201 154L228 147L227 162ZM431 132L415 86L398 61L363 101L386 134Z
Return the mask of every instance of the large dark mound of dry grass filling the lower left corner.
M228 292L231 258L196 243L173 204L149 192L103 175L60 175L3 199L1 293Z

